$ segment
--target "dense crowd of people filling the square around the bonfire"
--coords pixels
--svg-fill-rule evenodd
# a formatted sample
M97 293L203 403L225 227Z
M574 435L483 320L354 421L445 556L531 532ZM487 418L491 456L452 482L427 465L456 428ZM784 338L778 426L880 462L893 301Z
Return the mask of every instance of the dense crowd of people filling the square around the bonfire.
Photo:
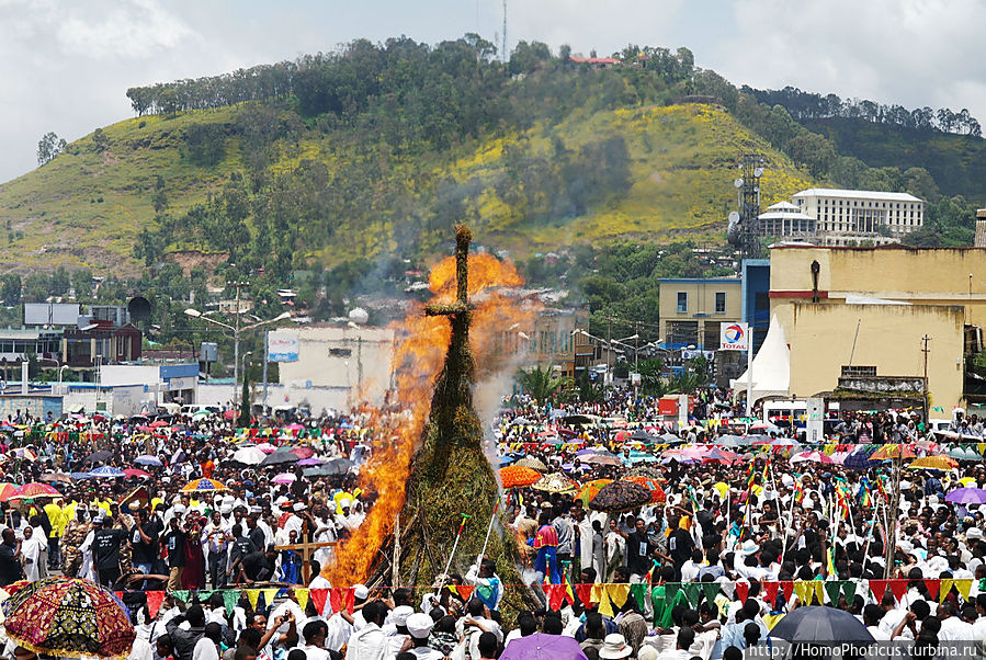
M302 554L284 548L343 539L362 523L374 500L358 480L376 442L367 417L250 432L224 416L21 429L0 447L7 478L47 481L57 494L3 504L0 583L60 572L127 594L167 590L154 612L147 599L129 599L140 660L477 660L539 636L565 638L575 658L735 660L812 604L851 614L877 640L986 641L986 510L951 498L986 487L974 445L940 469L907 468L909 454L871 459L877 447L866 443L909 443L918 457L956 448L910 412L874 412L842 416L821 445L801 446L794 424L782 424L724 454L713 451L716 439L737 433L724 423L728 398L712 390L701 406L707 419L677 428L657 420L654 401L628 394L560 411L506 402L492 423L503 464L537 459L574 486L505 493L503 533L517 538L523 584L501 583L502 567L488 558L457 557L462 570L426 590L329 584L320 568L331 547L315 551L310 574ZM605 421L566 425L575 416ZM956 414L955 433L976 429L977 419ZM655 440L631 442L635 430ZM250 446L304 447L296 456L310 460L247 465L235 455ZM146 475L100 476L100 464ZM627 475L658 483L661 497L613 511L581 492ZM197 488L182 492L190 485ZM852 588L803 588L815 581ZM261 607L214 591L260 585L347 587L352 603L301 602L288 589ZM512 591L525 598L505 600Z

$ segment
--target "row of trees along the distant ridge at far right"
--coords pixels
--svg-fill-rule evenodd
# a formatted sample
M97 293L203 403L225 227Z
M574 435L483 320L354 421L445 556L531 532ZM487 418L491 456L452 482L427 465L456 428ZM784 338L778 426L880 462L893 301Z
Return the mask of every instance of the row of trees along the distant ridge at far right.
M836 94L803 92L790 86L782 90L758 90L744 86L743 91L767 105L782 105L798 122L842 117L918 130L975 137L983 135L979 122L964 107L959 112L948 107L934 110L927 105L907 110L903 105L887 105L866 99L842 100Z

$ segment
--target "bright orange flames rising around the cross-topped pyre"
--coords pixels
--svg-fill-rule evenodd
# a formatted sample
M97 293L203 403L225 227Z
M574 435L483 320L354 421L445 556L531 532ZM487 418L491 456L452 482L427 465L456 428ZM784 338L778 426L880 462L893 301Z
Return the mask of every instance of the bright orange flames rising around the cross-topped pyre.
M455 259L431 271L435 301L455 296ZM480 373L502 368L523 348L521 332L533 326L533 307L519 304L500 287L518 287L523 278L510 262L490 254L469 255L469 297L475 305L471 340ZM370 410L374 429L373 457L360 471L360 488L374 491L376 501L352 535L336 547L335 561L324 571L333 585L351 585L370 577L381 546L394 532L404 507L410 463L421 445L434 382L442 371L451 340L447 319L426 317L415 306L396 323L397 345L392 371L396 391L385 409Z

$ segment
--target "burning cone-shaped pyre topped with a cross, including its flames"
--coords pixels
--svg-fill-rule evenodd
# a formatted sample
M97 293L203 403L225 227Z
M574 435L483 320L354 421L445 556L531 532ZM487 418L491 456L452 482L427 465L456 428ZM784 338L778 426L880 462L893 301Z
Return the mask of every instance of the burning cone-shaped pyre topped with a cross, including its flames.
M484 546L498 483L484 452L473 388L478 376L509 368L503 356L514 353L511 343L523 333L505 330L530 327L533 311L499 294L474 304L489 287L522 281L509 263L469 257L471 240L467 227L456 228L454 261L431 273L434 299L405 322L395 354L397 400L388 414L374 419L389 441L374 447L360 475L361 486L377 499L327 567L333 585L430 584L445 568L463 515L469 517L452 571L464 572ZM501 533L497 522L486 556L497 561L505 584L519 584L515 542Z

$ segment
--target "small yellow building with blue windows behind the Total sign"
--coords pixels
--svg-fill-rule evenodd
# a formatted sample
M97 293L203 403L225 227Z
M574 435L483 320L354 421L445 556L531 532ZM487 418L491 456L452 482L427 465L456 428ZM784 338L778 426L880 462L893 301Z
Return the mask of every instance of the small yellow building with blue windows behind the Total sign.
M723 322L740 320L743 281L739 277L676 277L661 280L660 335L664 346L719 348Z

